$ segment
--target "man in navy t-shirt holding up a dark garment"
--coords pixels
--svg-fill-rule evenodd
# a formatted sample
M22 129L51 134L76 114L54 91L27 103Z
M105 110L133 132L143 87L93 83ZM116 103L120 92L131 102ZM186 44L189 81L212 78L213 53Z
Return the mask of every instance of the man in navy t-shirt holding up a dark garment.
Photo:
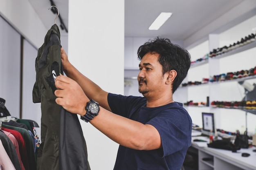
M185 49L158 37L139 47L137 78L144 97L107 93L82 75L63 49L61 58L67 77L56 78L56 103L120 144L115 170L180 170L192 128L187 111L173 101L191 63Z

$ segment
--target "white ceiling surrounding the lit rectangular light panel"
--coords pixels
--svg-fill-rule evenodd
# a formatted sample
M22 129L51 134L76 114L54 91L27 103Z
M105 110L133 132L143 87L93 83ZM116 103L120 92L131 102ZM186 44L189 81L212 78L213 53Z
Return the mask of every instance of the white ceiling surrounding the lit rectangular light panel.
M68 28L68 0L53 1ZM183 41L244 1L246 0L125 0L125 36L165 36L171 40ZM46 27L54 23L56 15L48 11L51 6L49 0L29 2ZM159 30L148 30L161 12L172 12L173 15ZM57 24L58 22L57 19ZM220 26L217 25L216 28ZM65 31L61 30L61 34L65 34Z

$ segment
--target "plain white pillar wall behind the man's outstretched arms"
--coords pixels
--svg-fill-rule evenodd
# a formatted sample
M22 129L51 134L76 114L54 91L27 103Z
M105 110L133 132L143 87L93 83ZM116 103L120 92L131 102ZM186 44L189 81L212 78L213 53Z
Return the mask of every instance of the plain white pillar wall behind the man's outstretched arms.
M70 62L103 90L124 94L124 0L70 0L68 30ZM91 169L113 169L118 144L90 123L81 126Z

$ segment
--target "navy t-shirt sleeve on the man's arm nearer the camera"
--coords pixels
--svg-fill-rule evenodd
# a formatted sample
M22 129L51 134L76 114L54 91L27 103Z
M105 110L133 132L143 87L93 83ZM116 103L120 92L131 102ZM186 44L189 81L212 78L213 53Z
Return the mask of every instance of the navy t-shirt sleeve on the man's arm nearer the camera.
M161 137L165 157L191 145L192 121L186 110L164 110L146 124L154 126Z

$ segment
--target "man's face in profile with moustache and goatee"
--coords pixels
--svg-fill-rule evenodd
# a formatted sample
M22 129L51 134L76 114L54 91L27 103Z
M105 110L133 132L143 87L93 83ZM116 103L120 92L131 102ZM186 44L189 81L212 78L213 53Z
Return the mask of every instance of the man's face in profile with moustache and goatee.
M139 93L144 97L157 95L163 90L166 74L163 76L162 65L158 62L159 54L146 53L139 63Z

